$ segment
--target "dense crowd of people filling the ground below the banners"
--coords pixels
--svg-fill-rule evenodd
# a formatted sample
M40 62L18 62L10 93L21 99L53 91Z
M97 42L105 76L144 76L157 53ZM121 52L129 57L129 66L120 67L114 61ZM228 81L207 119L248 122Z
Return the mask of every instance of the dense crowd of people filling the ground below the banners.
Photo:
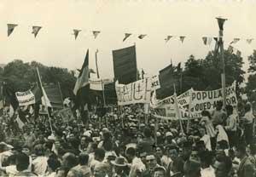
M63 122L38 117L22 129L0 118L0 175L47 177L253 177L256 142L250 104L202 111L189 122L145 115L137 107L113 109ZM184 129L184 131L183 131Z

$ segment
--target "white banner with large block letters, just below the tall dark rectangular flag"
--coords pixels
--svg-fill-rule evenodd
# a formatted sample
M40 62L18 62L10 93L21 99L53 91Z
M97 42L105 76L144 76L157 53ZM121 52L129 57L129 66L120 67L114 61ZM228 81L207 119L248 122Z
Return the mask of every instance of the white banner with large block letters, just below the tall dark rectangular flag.
M119 106L136 103L149 103L152 88L152 78L144 78L134 83L115 84Z

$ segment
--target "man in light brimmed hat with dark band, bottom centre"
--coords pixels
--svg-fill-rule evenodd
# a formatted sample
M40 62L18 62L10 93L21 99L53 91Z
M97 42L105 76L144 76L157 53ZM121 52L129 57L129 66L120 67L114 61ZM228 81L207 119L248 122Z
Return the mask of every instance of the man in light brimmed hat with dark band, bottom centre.
M124 157L116 157L114 161L111 161L111 164L114 169L113 177L128 177L128 175L125 174L127 163L125 163Z

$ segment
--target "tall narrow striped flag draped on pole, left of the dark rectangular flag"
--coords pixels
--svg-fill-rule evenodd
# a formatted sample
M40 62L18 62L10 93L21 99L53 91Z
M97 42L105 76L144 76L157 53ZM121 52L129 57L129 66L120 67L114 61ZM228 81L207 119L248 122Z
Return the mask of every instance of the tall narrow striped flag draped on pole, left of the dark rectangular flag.
M75 87L73 88L73 94L77 95L80 88L89 84L89 73L89 49L87 49L84 64L80 70Z

